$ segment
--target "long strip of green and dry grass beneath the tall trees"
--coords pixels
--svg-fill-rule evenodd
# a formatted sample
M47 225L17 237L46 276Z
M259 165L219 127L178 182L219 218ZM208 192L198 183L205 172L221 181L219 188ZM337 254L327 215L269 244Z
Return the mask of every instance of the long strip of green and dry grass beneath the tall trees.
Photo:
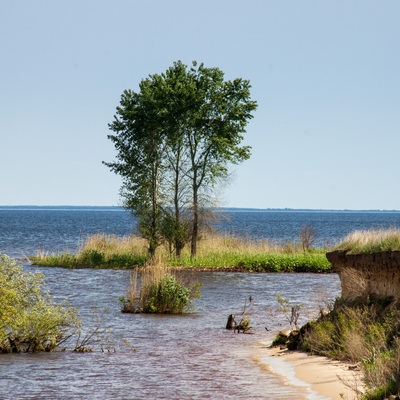
M163 247L162 263L169 267L238 270L250 272L330 272L324 249L295 243L277 245L233 236L204 235L197 256L188 249L176 258ZM148 262L146 241L137 236L117 237L97 234L89 237L75 253L40 253L30 258L36 265L65 268L123 268L144 266Z

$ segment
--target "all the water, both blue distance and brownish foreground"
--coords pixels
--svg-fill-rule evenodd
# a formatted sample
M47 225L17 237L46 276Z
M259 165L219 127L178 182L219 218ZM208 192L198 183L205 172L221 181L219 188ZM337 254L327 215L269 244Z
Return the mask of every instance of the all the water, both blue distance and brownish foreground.
M300 212L231 210L216 228L252 238L297 240L312 226L319 243L335 243L354 229L399 227L396 212ZM118 208L0 207L0 252L14 258L36 251L73 251L87 235L126 235L135 230ZM278 329L276 294L303 304L302 321L340 294L335 274L191 273L202 283L196 312L185 316L122 314L128 271L39 268L56 301L77 308L89 332L105 314L102 352L0 356L0 399L319 399L298 382L268 368L265 345ZM252 296L253 334L224 329ZM301 321L301 322L302 322ZM267 328L268 331L265 329ZM129 346L127 345L129 344ZM134 348L134 351L132 350Z

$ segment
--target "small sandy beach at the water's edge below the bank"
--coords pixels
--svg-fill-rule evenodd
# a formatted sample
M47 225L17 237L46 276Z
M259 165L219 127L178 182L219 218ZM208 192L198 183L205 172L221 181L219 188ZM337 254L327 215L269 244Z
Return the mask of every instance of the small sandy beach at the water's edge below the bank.
M286 384L298 387L303 398L355 400L353 389L362 390L361 374L349 364L269 345L264 349L263 363Z

